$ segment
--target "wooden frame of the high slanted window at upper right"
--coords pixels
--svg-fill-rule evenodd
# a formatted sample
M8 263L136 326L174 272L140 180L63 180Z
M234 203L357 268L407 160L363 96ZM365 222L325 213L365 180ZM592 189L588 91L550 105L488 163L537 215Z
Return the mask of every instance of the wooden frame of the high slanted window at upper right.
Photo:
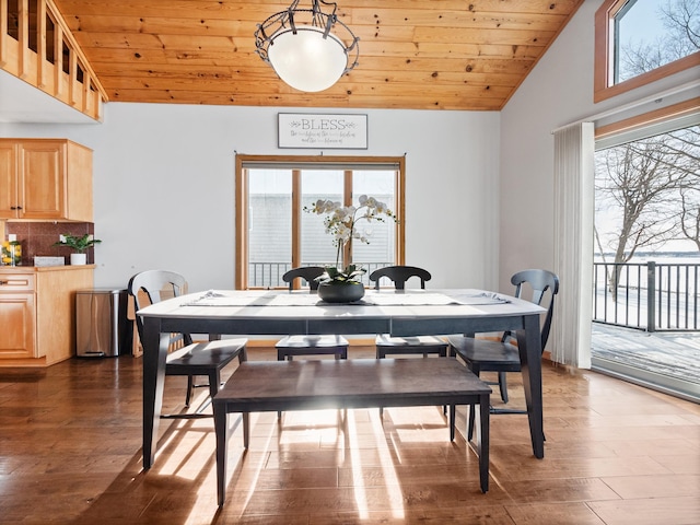
M598 103L657 80L700 66L700 51L668 62L618 84L614 82L615 16L629 0L605 0L595 13L593 102Z

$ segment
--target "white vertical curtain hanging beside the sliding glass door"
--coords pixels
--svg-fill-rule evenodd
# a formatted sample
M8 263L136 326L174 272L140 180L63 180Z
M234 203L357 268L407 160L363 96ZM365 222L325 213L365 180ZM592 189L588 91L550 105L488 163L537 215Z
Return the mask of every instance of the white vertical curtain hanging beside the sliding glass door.
M558 306L551 332L557 363L591 368L594 126L555 131L555 271Z

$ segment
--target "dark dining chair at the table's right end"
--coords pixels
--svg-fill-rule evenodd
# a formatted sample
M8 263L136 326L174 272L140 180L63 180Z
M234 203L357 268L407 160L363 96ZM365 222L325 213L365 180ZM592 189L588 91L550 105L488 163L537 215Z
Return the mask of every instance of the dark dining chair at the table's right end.
M548 270L532 269L518 271L511 278L515 285L515 296L547 307L547 315L541 326L542 351L549 339L551 319L555 310L555 296L559 293L559 277ZM529 293L527 292L529 290ZM501 399L508 402L508 372L521 372L521 357L515 341L515 334L506 331L499 341L477 339L474 335L450 336L450 355L459 355L466 365L479 376L481 372L497 372ZM527 413L524 410L490 408L491 413ZM471 439L474 430L474 407L469 409L467 439Z

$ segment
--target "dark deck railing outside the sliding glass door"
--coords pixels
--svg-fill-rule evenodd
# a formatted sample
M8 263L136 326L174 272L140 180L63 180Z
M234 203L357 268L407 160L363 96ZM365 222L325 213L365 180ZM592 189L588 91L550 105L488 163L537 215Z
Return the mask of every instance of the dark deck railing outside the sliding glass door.
M700 331L700 264L593 266L595 323L645 331Z

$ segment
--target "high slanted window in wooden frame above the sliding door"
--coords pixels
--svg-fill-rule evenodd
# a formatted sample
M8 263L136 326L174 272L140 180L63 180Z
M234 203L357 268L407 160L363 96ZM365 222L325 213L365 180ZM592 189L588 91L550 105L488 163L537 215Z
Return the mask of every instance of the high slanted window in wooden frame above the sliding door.
M606 0L596 12L595 102L697 66L697 0Z

